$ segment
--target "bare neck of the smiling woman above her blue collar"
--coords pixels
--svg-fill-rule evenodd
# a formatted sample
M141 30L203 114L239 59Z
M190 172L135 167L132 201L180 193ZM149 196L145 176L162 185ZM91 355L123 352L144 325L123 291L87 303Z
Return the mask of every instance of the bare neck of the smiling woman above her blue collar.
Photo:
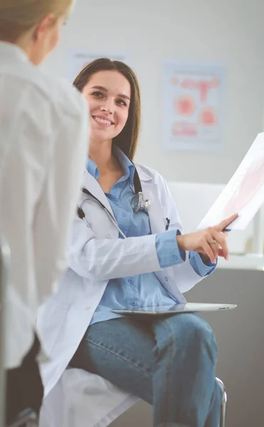
M90 140L89 157L97 164L98 170L102 173L105 170L115 167L115 157L112 155L112 141Z

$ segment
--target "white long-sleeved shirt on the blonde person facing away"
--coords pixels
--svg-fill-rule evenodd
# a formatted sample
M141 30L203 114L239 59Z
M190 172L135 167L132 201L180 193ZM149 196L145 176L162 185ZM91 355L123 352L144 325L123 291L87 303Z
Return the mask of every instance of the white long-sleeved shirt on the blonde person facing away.
M0 233L11 248L6 367L33 342L36 309L65 270L88 149L88 108L70 83L0 43Z

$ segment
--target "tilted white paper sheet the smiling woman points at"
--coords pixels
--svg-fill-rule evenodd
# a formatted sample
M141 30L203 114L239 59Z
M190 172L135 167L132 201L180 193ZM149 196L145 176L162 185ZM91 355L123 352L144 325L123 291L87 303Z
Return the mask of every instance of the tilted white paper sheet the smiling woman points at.
M198 228L214 226L238 213L228 229L243 230L264 202L264 132L258 134L243 161Z

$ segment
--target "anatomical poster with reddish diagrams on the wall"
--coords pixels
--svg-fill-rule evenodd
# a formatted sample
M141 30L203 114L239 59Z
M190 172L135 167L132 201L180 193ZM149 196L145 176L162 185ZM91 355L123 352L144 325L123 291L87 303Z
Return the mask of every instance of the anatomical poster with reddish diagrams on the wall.
M225 67L164 62L162 147L220 152L223 148Z

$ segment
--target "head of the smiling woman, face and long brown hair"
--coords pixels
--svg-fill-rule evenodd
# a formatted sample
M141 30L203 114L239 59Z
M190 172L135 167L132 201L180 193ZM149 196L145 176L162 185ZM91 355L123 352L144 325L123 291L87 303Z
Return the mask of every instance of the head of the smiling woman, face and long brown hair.
M100 132L95 122L110 127L101 138L112 139L127 157L134 158L139 137L141 107L137 76L125 63L100 58L88 64L75 78L75 85L90 105L91 137ZM95 116L95 117L94 117ZM111 124L102 120L110 120ZM101 129L102 130L102 129Z

